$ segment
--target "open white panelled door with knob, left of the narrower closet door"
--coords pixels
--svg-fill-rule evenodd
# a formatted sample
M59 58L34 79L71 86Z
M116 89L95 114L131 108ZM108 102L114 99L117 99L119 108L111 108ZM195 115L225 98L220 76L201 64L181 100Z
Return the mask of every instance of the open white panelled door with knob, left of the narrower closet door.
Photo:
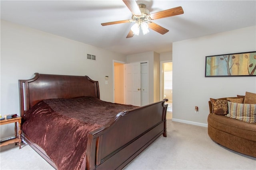
M125 64L125 104L141 106L140 63Z

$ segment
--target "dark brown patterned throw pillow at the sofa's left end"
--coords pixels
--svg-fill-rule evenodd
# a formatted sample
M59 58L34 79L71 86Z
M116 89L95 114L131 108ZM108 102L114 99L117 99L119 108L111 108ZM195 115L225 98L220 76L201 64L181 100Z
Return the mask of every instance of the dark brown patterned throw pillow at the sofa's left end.
M212 113L214 115L226 115L228 114L228 102L227 100L212 99Z

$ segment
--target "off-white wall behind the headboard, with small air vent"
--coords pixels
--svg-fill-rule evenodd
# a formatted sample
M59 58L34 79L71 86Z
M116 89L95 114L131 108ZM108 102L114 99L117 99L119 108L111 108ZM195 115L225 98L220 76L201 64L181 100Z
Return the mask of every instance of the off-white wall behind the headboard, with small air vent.
M87 60L87 54L96 55L96 61ZM88 75L99 81L100 98L113 102L113 60L126 62L126 56L1 20L0 113L19 115L18 80L30 79L35 72ZM1 138L14 131L6 129L1 126Z

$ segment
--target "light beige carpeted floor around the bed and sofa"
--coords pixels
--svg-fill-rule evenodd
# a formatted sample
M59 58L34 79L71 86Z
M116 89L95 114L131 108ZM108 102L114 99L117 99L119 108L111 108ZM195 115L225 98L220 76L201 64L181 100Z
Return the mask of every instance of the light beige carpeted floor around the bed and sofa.
M167 114L168 115L168 114ZM0 150L1 170L53 169L28 145ZM214 143L206 127L167 120L167 137L159 137L125 170L255 170L256 158Z

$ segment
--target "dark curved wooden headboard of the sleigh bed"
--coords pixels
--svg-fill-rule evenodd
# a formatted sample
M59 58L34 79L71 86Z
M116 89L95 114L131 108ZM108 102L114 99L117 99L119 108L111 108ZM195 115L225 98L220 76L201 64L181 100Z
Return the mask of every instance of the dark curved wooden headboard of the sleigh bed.
M35 73L30 80L19 80L20 115L37 102L51 98L93 96L100 99L98 81L88 76L68 76Z

